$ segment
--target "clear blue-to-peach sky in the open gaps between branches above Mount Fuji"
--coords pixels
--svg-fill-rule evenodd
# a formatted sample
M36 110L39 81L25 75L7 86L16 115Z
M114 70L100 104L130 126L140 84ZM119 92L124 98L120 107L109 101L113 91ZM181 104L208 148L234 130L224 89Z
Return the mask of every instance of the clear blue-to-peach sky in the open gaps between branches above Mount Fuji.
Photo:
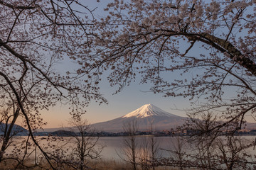
M101 1L100 3L96 3L96 0L87 0L87 6L90 8L97 7L94 11L95 16L103 16L105 13L102 8L109 2L110 1ZM60 63L60 67L66 67L66 64L67 63L63 63L62 65ZM169 79L178 77L175 73L170 73L166 76L168 76ZM126 86L121 92L113 95L117 87L111 87L107 79L103 79L100 84L100 89L102 95L107 98L108 104L103 103L99 106L98 103L92 101L89 106L85 108L87 112L82 118L87 119L89 123L99 123L119 118L149 103L169 113L183 117L186 116L184 109L191 107L190 101L188 101L187 98L165 98L163 94L145 92L149 91L150 86L151 84L139 84L139 79L137 79L129 86ZM42 111L41 115L43 120L48 123L44 128L60 128L63 125L65 126L70 118L68 106L60 104L50 108L49 111Z

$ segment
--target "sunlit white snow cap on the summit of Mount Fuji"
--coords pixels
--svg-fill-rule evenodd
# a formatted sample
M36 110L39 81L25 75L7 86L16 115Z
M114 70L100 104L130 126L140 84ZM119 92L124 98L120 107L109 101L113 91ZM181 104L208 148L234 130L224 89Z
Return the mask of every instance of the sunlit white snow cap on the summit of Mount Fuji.
M130 118L130 117L146 118L146 117L149 117L152 115L168 116L168 117L177 116L177 115L168 113L166 111L163 111L163 110L161 110L161 108L158 108L152 104L146 104L146 105L138 108L137 110L132 111L131 113L128 113L127 115L122 116L122 118Z

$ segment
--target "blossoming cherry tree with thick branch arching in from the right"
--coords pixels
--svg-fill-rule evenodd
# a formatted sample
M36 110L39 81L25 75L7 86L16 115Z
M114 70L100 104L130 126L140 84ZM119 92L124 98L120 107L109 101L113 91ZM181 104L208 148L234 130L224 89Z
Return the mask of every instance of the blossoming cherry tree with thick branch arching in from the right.
M255 3L116 0L83 63L110 70L117 92L141 77L154 93L189 98L193 118L214 111L226 120L208 132L240 130L255 118Z

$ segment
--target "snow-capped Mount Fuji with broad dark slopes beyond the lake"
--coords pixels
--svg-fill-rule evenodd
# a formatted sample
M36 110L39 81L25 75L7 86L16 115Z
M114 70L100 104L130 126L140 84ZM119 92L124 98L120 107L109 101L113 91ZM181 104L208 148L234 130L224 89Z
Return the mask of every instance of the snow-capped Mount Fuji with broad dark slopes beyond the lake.
M186 118L163 111L152 104L146 104L122 117L92 124L92 127L105 132L123 132L124 123L132 120L137 121L141 131L149 130L151 123L154 130L171 130L182 125Z

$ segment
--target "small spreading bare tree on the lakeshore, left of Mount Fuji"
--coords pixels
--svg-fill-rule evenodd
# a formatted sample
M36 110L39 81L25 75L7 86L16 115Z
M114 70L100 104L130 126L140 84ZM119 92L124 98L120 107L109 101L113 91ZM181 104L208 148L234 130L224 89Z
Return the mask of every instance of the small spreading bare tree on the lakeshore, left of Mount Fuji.
M67 137L48 137L48 155L58 169L94 169L92 161L100 159L103 145L100 132L87 120L71 118L62 130ZM45 150L45 152L46 152Z

